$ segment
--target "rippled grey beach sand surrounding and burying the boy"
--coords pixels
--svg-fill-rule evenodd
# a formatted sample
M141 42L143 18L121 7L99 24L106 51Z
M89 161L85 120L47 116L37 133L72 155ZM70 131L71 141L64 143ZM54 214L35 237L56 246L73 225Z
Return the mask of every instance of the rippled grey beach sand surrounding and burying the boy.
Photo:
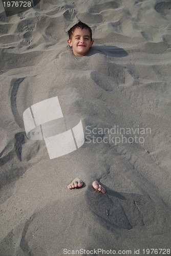
M0 255L170 255L170 1L0 10ZM78 20L94 38L83 57L67 47ZM50 159L44 140L26 137L23 113L55 96L85 142ZM77 176L83 187L68 190Z

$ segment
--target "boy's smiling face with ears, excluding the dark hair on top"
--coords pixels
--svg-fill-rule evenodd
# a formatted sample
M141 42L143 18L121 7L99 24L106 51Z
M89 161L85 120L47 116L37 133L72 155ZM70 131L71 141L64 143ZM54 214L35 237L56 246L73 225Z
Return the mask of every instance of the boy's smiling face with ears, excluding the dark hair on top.
M93 45L93 40L91 40L90 37L90 31L88 29L76 28L71 39L68 39L68 44L72 47L74 55L85 55Z

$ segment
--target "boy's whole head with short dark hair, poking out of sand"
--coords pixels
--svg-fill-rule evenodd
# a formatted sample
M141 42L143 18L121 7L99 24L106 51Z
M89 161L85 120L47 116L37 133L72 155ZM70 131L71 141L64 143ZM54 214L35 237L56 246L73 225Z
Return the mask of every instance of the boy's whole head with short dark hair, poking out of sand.
M68 31L68 44L72 47L73 53L76 56L83 56L88 53L90 47L93 45L92 30L82 22L75 24Z

